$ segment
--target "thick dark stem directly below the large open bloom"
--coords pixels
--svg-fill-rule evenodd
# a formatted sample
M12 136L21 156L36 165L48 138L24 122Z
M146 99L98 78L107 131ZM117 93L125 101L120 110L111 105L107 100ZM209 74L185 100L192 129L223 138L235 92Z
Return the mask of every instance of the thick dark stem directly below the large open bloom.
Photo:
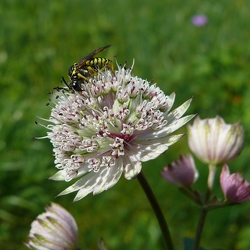
M172 238L171 238L171 235L170 235L170 232L168 229L167 222L164 218L164 215L161 211L159 203L157 202L151 187L149 186L149 184L148 184L148 182L147 182L147 180L142 172L140 172L137 175L137 179L140 182L141 187L142 187L143 191L145 192L145 194L146 194L146 196L151 204L151 207L154 210L155 216L156 216L158 223L159 223L159 226L161 228L163 239L166 243L166 247L167 247L166 249L173 250L174 246L173 246Z

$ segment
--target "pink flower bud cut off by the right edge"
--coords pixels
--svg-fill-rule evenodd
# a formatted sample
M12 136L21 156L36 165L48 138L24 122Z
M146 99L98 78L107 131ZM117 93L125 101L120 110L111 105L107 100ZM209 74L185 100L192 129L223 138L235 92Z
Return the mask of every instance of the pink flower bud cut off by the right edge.
M250 200L250 184L239 173L230 175L226 164L220 174L220 185L227 200L231 202Z

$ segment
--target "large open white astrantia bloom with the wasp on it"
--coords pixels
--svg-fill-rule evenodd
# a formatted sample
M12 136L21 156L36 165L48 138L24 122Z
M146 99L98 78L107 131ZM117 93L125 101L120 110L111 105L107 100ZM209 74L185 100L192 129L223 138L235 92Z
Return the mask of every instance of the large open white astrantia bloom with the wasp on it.
M136 177L141 162L178 141L181 134L169 134L193 117L181 118L191 100L169 112L175 95L165 96L131 69L100 72L82 87L81 93L57 94L47 136L60 169L52 179L81 177L60 194L78 191L75 201L111 188L122 173Z

